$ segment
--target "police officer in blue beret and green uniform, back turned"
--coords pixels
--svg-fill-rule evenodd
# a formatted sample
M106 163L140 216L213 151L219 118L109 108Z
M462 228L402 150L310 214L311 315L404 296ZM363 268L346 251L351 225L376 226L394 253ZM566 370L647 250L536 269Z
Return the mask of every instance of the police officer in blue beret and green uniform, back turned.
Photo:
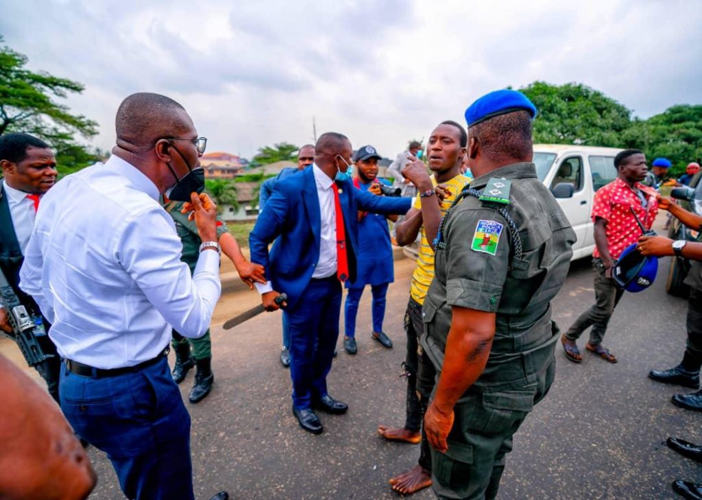
M439 374L424 416L440 499L494 499L512 435L555 375L551 299L576 235L532 163L536 107L496 91L468 107L475 175L443 218L421 345ZM403 172L431 182L418 162ZM432 220L438 207L422 205Z

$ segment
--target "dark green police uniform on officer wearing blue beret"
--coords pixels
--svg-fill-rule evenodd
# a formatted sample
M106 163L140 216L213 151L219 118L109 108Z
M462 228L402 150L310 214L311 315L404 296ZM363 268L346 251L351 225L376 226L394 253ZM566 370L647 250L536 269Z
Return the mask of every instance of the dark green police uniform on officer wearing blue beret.
M576 241L534 164L503 166L470 187L498 201L503 195L506 204L468 196L446 216L421 342L440 373L453 305L497 313L496 331L485 370L453 409L448 451L432 449L433 488L440 499L496 496L512 435L554 378L559 335L550 302L566 280Z

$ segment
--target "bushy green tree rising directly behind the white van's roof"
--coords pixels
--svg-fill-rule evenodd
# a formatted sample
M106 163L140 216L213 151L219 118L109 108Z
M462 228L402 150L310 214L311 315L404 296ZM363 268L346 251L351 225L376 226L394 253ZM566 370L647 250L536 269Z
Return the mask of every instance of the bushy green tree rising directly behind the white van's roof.
M520 88L536 105L535 143L623 145L630 110L583 84L551 85L544 81Z

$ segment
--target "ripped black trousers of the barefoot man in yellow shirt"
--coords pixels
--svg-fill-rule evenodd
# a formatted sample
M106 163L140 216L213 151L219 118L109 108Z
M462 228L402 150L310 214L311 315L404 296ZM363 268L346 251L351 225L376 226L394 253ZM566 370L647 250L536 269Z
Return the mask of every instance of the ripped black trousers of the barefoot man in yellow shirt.
M429 405L429 397L434 390L436 370L419 345L419 337L424 331L422 305L411 297L404 313L404 329L407 333L407 355L404 368L408 374L404 428L413 433L421 430L422 441L418 463L425 471L431 471L432 455L422 421Z

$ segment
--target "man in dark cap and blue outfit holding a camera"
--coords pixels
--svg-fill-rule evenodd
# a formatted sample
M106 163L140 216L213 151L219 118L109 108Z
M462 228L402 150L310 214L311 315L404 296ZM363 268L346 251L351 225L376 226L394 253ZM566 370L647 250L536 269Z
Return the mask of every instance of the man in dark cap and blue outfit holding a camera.
M354 154L356 176L353 183L357 189L370 192L373 195L382 195L380 183L390 185L385 180L378 179L379 159L381 159L380 154L371 145L359 148ZM397 221L397 216L365 211L358 213L357 273L354 281L346 282L348 293L344 307L344 349L350 355L355 355L358 351L356 346L356 315L358 303L366 284L371 285L371 294L373 294L371 337L384 348L392 348L390 337L383 332L385 295L388 294L388 285L395 281L388 219Z

